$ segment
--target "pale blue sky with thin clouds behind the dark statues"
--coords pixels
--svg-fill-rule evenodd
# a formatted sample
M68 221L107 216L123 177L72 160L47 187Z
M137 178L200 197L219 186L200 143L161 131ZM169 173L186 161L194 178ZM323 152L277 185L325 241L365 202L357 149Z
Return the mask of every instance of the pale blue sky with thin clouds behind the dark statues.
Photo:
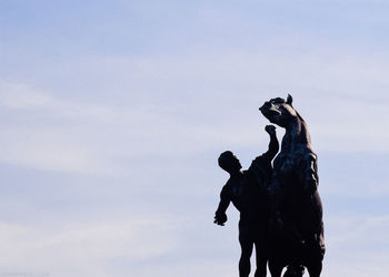
M258 107L288 93L319 157L322 276L385 276L388 12L0 0L0 276L238 276L217 158L247 168L268 146Z

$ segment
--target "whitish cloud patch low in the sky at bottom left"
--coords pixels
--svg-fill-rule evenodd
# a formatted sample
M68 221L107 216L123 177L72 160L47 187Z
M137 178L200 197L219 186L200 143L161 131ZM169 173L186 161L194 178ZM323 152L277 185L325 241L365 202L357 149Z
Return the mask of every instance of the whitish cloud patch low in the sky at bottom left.
M50 276L116 276L110 275L116 271L116 260L140 263L174 250L174 226L163 215L60 226L1 223L2 265L13 271L28 269Z

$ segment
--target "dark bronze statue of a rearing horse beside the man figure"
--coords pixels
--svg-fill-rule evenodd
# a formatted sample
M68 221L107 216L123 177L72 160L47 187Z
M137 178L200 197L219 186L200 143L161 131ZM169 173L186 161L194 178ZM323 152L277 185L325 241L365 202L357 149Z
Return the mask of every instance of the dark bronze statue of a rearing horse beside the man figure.
M286 130L268 187L271 276L280 277L285 266L290 266L285 276L302 276L303 265L310 277L319 277L325 256L322 205L317 155L307 124L293 109L290 95L287 101L271 99L259 110L271 123Z

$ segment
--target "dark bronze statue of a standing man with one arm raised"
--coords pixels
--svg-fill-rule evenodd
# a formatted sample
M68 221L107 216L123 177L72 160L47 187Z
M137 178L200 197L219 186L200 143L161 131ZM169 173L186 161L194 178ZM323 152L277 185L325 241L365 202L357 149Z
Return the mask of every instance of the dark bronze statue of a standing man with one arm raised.
M267 186L271 178L271 160L276 156L279 144L276 127L266 126L270 135L268 151L252 161L248 171L242 172L239 160L230 151L219 157L219 165L230 174L230 178L220 193L219 207L216 211L215 223L223 226L227 222L226 209L230 202L240 212L239 243L241 256L239 260L239 276L250 274L250 257L256 247L256 277L267 274L267 232L269 205L267 203Z

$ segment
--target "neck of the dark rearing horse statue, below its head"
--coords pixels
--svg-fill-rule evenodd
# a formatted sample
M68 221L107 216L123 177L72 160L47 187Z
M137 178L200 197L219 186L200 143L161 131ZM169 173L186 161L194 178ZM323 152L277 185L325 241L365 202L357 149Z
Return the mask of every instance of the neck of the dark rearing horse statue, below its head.
M298 146L306 145L310 147L310 135L307 123L298 115L286 127L286 133L282 138L282 152L295 152Z

